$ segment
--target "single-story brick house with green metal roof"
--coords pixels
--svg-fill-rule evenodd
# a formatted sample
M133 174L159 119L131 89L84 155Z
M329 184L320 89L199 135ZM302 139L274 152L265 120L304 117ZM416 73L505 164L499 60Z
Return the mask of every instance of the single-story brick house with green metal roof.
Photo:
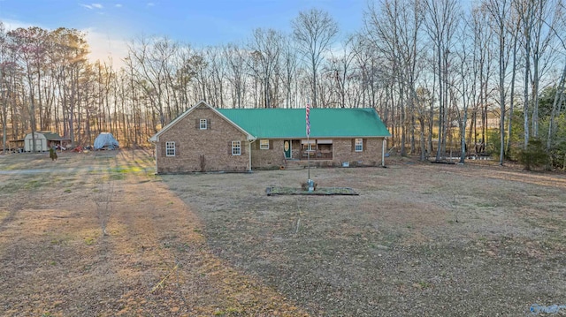
M215 109L198 102L152 136L158 174L384 165L391 134L375 109Z

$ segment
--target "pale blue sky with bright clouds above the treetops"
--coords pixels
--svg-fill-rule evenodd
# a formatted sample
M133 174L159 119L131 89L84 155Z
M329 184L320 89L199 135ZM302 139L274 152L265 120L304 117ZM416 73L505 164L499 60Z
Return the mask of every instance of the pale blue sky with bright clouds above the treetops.
M299 11L311 8L328 11L344 37L362 27L366 7L366 0L0 0L0 20L8 29L76 28L88 34L91 59L117 60L140 35L194 47L240 43L257 27L288 33Z

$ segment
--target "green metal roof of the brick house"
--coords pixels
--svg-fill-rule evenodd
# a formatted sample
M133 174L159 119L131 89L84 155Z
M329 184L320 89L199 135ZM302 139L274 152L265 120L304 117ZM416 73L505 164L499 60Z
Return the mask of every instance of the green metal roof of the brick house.
M304 108L217 110L257 139L307 137ZM310 109L310 138L390 136L374 109Z

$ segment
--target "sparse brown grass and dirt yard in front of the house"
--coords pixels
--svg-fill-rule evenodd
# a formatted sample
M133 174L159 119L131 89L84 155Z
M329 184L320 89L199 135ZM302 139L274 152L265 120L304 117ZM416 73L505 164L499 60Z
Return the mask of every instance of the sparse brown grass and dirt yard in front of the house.
M311 170L360 194L320 197L265 195L306 170L152 166L141 150L0 156L2 314L566 314L562 173L403 158Z

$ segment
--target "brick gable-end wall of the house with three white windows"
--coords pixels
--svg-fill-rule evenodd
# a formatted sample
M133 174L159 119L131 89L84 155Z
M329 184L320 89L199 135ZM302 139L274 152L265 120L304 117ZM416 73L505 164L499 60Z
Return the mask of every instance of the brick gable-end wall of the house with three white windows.
M208 120L208 129L197 122ZM249 142L246 134L223 117L201 105L193 109L167 131L156 143L157 173L249 170ZM232 155L231 142L241 141L241 155ZM175 142L175 156L165 155L165 143Z

